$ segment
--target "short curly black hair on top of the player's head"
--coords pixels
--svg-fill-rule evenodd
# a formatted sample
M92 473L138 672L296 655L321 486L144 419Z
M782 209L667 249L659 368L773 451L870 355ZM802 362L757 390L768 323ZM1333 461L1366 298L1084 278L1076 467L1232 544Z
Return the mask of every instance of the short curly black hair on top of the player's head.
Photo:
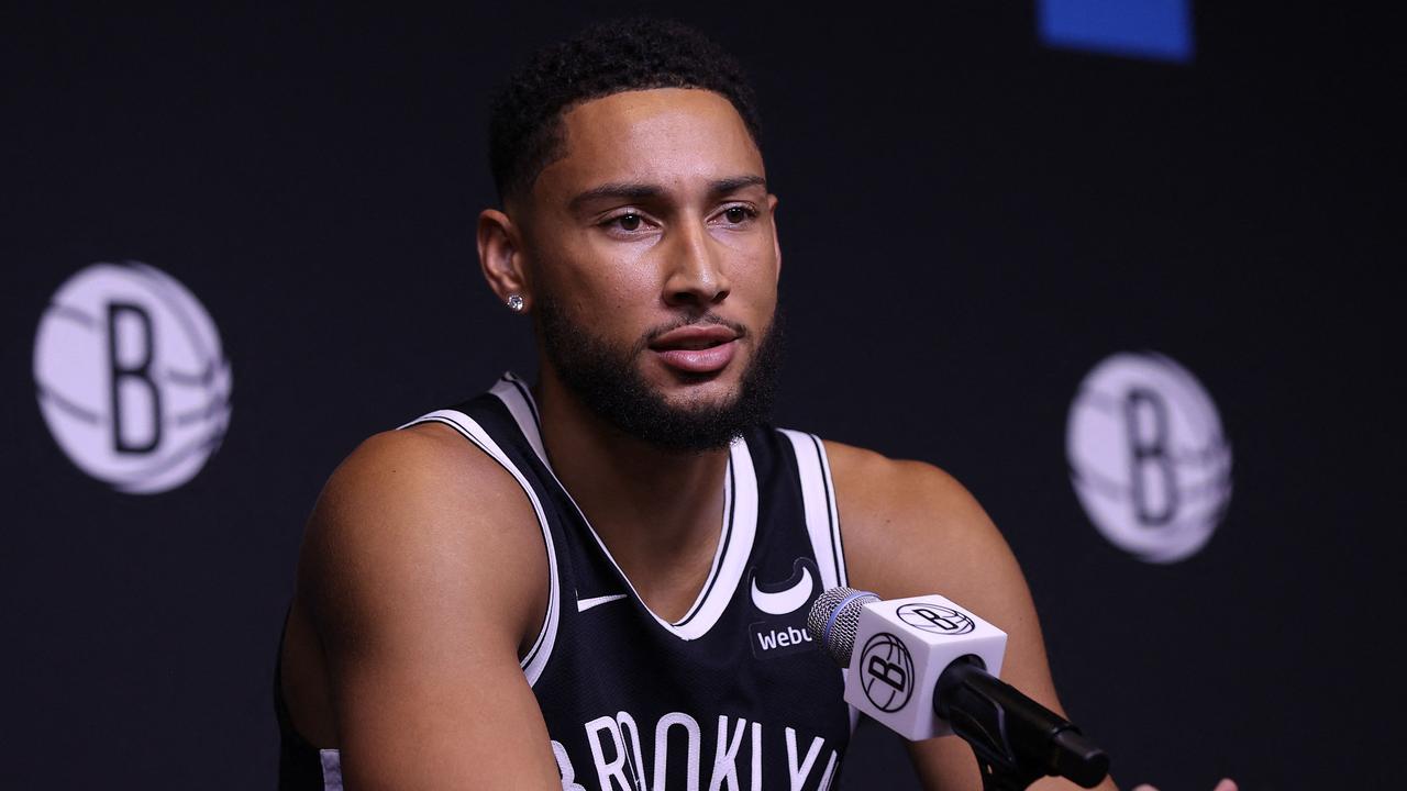
M568 110L592 99L657 87L722 94L761 148L753 90L741 66L720 46L668 20L598 23L537 51L494 97L488 159L498 198L526 194L542 169L563 155L561 117Z

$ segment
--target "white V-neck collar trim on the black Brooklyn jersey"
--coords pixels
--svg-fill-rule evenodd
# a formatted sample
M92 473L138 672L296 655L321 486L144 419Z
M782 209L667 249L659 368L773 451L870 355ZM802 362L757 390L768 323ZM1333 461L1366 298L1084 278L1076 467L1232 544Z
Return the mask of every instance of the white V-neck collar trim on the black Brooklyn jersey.
M699 590L698 598L689 611L680 621L671 624L664 618L660 618L653 609L644 605L640 598L639 591L635 590L635 584L616 563L611 550L606 549L601 535L597 529L591 526L585 514L581 512L581 507L571 498L571 493L567 487L561 486L557 480L557 473L552 469L552 463L547 460L547 453L542 442L542 428L537 418L537 405L532 400L532 394L521 379L512 373L504 374L504 377L495 384L490 393L498 397L499 401L508 408L508 412L518 422L518 428L528 438L528 443L532 445L533 452L542 460L543 466L553 476L557 487L567 495L567 500L577 508L577 515L581 517L581 522L587 525L587 531L591 538L595 539L597 546L601 548L602 555L606 560L616 567L620 573L620 578L625 580L626 586L630 588L630 595L639 601L646 612L649 612L660 626L664 626L670 633L678 636L684 640L695 640L708 633L708 631L718 622L723 609L727 608L727 602L733 598L733 593L737 590L737 584L743 578L743 571L747 566L747 557L753 552L753 539L757 536L757 470L753 467L753 456L747 450L747 442L741 438L734 439L732 448L729 449L729 464L727 474L725 476L723 484L723 526L718 540L718 550L713 553L713 566L709 569L708 580L705 580L704 587Z

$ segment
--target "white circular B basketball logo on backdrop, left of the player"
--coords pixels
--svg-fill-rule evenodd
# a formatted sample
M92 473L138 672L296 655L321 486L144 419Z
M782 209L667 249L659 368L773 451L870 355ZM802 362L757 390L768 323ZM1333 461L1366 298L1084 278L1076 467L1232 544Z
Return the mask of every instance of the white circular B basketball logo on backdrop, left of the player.
M189 481L229 425L215 322L145 263L94 263L59 287L39 319L34 379L59 448L118 491Z

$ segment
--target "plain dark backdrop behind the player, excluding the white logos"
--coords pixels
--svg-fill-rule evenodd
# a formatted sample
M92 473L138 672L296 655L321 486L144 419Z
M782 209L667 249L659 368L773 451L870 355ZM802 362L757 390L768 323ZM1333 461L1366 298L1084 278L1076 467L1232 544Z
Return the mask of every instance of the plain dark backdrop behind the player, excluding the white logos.
M1126 787L1386 785L1401 99L1370 86L1400 77L1394 28L1199 3L1178 63L1044 46L1029 3L650 8L760 93L778 422L976 494ZM473 251L487 89L620 10L0 11L0 787L273 784L319 486L366 435L530 366ZM127 259L198 296L234 372L224 445L156 495L82 473L35 400L51 296ZM1220 529L1172 564L1104 540L1065 460L1082 377L1141 349L1197 376L1235 455ZM843 785L912 785L899 750L862 729Z

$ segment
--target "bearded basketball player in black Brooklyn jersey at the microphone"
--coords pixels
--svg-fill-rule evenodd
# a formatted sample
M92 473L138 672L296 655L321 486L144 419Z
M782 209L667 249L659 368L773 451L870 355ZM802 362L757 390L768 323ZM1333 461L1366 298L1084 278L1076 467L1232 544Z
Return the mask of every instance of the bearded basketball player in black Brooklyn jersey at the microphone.
M1059 711L1021 571L957 481L764 424L782 259L737 66L677 25L598 27L514 79L491 137L478 255L537 380L332 474L281 649L281 787L829 787L853 722L802 624L837 584L962 602ZM960 739L913 759L981 787Z

